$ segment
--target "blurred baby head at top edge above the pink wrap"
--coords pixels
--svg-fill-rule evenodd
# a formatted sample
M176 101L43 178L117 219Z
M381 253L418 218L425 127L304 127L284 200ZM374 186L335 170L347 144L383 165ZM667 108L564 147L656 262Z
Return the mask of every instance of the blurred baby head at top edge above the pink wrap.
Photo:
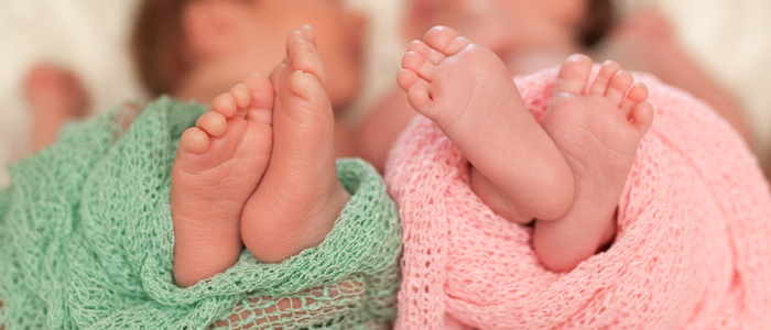
M611 0L410 0L405 33L421 38L434 25L460 34L499 55L566 34L591 46L611 28Z

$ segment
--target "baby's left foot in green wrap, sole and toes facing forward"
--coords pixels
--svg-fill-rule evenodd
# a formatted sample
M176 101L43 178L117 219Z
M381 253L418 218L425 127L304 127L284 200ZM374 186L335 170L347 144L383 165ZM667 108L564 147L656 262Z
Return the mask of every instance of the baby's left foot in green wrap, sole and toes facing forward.
M273 145L273 87L253 75L218 96L187 129L172 172L174 278L182 287L221 273L242 249L241 212Z

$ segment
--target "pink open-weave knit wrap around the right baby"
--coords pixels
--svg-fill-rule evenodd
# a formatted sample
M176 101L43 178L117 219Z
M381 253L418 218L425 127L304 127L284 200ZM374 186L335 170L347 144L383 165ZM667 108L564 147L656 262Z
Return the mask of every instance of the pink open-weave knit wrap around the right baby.
M556 73L515 79L539 121ZM545 270L532 229L471 193L468 162L434 123L412 122L386 177L404 231L398 329L771 328L771 196L756 158L707 106L637 78L655 119L616 241L568 273Z

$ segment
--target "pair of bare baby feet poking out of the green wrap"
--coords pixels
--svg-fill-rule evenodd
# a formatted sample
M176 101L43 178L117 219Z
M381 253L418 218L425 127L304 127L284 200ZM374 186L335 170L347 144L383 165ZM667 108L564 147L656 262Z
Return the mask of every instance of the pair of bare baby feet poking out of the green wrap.
M314 43L312 28L292 32L270 77L247 77L182 134L171 193L180 286L226 271L243 245L265 263L316 246L350 199Z

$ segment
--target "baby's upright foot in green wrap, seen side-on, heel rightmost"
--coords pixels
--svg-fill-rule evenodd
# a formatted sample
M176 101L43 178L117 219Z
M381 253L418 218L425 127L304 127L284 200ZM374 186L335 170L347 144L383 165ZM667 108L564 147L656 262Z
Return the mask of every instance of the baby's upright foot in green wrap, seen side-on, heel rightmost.
M267 263L323 242L350 199L337 178L335 119L313 28L292 32L286 48L271 74L276 92L271 162L241 220L243 243Z

